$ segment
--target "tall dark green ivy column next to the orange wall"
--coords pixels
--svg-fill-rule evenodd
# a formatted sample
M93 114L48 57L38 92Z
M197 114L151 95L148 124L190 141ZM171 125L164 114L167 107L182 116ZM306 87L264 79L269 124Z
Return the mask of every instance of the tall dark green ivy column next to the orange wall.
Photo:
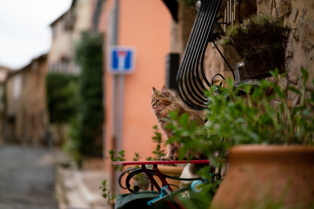
M72 137L84 156L102 155L103 37L82 33L75 47L75 63L80 67L78 115L72 123Z

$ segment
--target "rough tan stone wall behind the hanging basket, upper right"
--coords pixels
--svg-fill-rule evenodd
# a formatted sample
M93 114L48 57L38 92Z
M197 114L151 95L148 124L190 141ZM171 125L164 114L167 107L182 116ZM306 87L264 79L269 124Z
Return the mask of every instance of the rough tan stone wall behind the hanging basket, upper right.
M310 79L314 78L314 2L308 0L276 0L278 18L291 29L285 51L285 68L287 76L282 78L280 85L302 88L300 67L308 69ZM257 13L277 18L272 1L258 0ZM311 85L309 83L309 85ZM307 86L312 88L313 86ZM288 104L294 106L300 102L300 96L288 94Z

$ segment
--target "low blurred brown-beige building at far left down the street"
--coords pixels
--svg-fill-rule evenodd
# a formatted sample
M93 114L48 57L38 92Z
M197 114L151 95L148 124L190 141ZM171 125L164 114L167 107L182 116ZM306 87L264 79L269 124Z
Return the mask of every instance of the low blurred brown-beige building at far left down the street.
M10 71L5 92L5 143L44 143L47 128L46 69L45 54L19 70Z

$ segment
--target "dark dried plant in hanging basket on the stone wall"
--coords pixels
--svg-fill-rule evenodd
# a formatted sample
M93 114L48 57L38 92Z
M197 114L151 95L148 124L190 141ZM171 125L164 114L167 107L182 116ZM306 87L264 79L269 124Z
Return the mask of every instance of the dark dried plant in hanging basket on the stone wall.
M290 29L279 19L253 15L226 29L218 41L223 47L234 47L244 58L248 79L270 76L276 67L284 72L284 52Z

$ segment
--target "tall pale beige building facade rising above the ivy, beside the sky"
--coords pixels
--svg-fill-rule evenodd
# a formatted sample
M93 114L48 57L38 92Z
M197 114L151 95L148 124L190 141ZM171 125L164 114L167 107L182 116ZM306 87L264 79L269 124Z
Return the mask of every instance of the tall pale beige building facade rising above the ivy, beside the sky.
M74 62L75 44L83 31L92 29L92 17L97 0L73 0L71 7L50 24L51 48L48 71L79 73Z

